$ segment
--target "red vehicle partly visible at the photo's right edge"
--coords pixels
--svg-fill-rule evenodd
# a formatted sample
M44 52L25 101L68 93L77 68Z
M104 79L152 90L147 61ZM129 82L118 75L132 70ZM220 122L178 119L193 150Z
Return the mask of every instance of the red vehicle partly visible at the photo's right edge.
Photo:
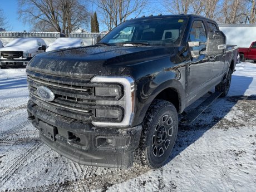
M256 63L256 41L252 42L249 48L238 47L240 60L253 60Z

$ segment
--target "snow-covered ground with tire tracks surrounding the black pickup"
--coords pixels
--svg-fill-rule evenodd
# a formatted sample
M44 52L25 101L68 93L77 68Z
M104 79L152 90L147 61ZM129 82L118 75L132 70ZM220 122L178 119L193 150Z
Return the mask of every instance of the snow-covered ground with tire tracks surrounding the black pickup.
M84 166L57 154L27 120L25 70L0 70L0 190L256 191L256 65L236 69L228 97L180 125L157 170Z

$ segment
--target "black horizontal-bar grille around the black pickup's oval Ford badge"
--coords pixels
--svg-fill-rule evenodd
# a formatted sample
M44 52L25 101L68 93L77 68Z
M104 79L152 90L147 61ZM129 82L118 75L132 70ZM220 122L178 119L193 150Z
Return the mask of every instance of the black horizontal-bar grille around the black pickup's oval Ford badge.
M90 80L54 76L29 70L26 72L31 101L46 110L76 120L93 121L100 120L96 117L96 109L118 108L118 106L97 105L96 101L101 98L95 96L95 85ZM41 99L37 95L39 86L49 88L55 94L55 99L51 102Z

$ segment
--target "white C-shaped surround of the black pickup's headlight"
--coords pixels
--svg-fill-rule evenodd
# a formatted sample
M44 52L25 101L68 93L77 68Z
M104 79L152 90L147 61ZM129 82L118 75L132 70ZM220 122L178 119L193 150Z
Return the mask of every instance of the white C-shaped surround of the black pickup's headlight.
M124 108L124 117L121 122L99 122L92 121L92 124L100 127L127 127L131 125L132 118L134 116L134 102L135 102L135 90L134 90L134 80L127 76L95 76L91 79L91 82L105 83L119 83L123 87L124 95L119 100L97 100L98 105L109 105L109 106L121 106ZM121 91L119 86L109 85L109 87L96 87L95 95L100 96L121 96ZM112 117L116 118L120 115L118 110L96 110L96 116L99 117Z

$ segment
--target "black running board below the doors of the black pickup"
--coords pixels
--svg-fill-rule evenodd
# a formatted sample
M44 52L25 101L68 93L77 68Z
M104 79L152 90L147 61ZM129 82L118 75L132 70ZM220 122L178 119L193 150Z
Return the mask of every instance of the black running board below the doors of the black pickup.
M206 110L220 95L222 92L214 92L204 102L197 106L190 114L187 114L183 119L180 120L181 124L190 124L193 122L204 110Z

